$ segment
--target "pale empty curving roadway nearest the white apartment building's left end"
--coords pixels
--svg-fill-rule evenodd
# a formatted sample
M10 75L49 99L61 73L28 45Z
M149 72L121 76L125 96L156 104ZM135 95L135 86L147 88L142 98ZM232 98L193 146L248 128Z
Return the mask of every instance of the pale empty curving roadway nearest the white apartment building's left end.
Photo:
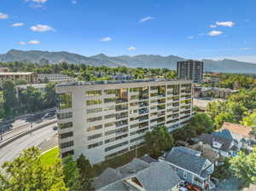
M57 133L56 130L53 130L55 125L56 124L50 124L42 129L35 130L32 132L32 135L22 136L14 142L10 142L5 147L0 148L0 165L2 165L4 161L15 159L24 149L38 146L41 142L44 142L44 140L54 136L55 133Z

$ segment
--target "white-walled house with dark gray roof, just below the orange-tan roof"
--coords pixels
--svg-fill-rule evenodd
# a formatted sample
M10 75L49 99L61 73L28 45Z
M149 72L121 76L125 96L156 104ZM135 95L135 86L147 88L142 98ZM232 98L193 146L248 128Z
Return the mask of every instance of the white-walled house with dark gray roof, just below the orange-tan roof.
M236 156L236 153L241 148L241 144L221 134L221 132L214 132L212 134L203 133L197 137L197 141L210 145L213 151L218 152L224 157Z

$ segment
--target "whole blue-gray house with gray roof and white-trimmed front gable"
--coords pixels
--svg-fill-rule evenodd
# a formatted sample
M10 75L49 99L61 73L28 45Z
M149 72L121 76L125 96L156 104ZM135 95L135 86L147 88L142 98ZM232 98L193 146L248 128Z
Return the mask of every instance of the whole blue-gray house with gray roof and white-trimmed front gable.
M170 165L184 182L189 182L203 190L215 188L210 180L214 164L209 159L201 157L201 152L190 148L176 147L160 157L159 160Z

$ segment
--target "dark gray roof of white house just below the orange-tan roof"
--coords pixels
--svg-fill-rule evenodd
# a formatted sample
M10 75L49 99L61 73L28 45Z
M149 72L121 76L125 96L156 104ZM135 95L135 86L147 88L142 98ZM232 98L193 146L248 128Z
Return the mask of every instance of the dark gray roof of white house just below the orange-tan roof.
M231 145L232 145L232 139L225 138L223 136L217 136L213 134L206 134L203 133L201 136L198 137L199 142L202 142L204 144L208 144L213 146L213 142L219 142L222 144L221 148L218 148L219 150L222 150L224 152L230 151Z

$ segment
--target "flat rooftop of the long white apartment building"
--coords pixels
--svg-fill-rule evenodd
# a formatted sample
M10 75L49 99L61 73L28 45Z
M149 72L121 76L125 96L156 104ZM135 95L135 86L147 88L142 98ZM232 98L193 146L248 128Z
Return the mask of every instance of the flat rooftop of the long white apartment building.
M105 80L105 81L92 81L92 82L73 82L73 83L61 83L57 84L56 87L63 86L79 86L79 85L96 85L96 84L131 84L131 83L145 83L145 82L177 82L181 79L166 79L166 78L150 78L150 79L135 79L135 80ZM192 80L183 79L192 83Z

